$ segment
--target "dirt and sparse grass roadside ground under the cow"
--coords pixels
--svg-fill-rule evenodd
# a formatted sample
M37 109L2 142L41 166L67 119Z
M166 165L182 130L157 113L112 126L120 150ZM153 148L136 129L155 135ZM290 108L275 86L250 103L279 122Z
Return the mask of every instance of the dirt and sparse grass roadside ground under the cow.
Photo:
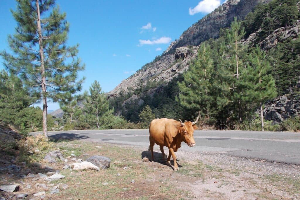
M22 166L19 172L0 170L0 185L20 184L19 191L0 191L0 196L22 199L17 196L26 193L24 199L41 199L33 194L45 191L42 199L300 199L300 167L295 165L179 149L179 171L174 172L162 160L158 146L155 162L149 162L143 158L150 158L150 152L143 148L87 140L57 145L65 155L75 152L76 159L83 161L91 155L109 157L110 168L99 172L63 169L74 162L68 158L66 163ZM66 177L49 182L28 176L46 174L45 166ZM56 186L59 193L50 194Z

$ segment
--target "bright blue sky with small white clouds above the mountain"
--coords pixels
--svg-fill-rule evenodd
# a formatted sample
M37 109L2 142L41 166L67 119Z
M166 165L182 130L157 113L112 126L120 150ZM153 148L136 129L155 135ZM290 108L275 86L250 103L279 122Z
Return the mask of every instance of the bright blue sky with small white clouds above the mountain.
M161 55L172 41L224 0L96 1L57 0L70 23L68 45L79 44L85 70L83 91L97 80L102 90L113 90L144 64ZM9 51L7 35L16 22L10 9L13 0L1 0L0 50ZM0 58L0 69L3 60ZM58 109L48 103L49 110Z

